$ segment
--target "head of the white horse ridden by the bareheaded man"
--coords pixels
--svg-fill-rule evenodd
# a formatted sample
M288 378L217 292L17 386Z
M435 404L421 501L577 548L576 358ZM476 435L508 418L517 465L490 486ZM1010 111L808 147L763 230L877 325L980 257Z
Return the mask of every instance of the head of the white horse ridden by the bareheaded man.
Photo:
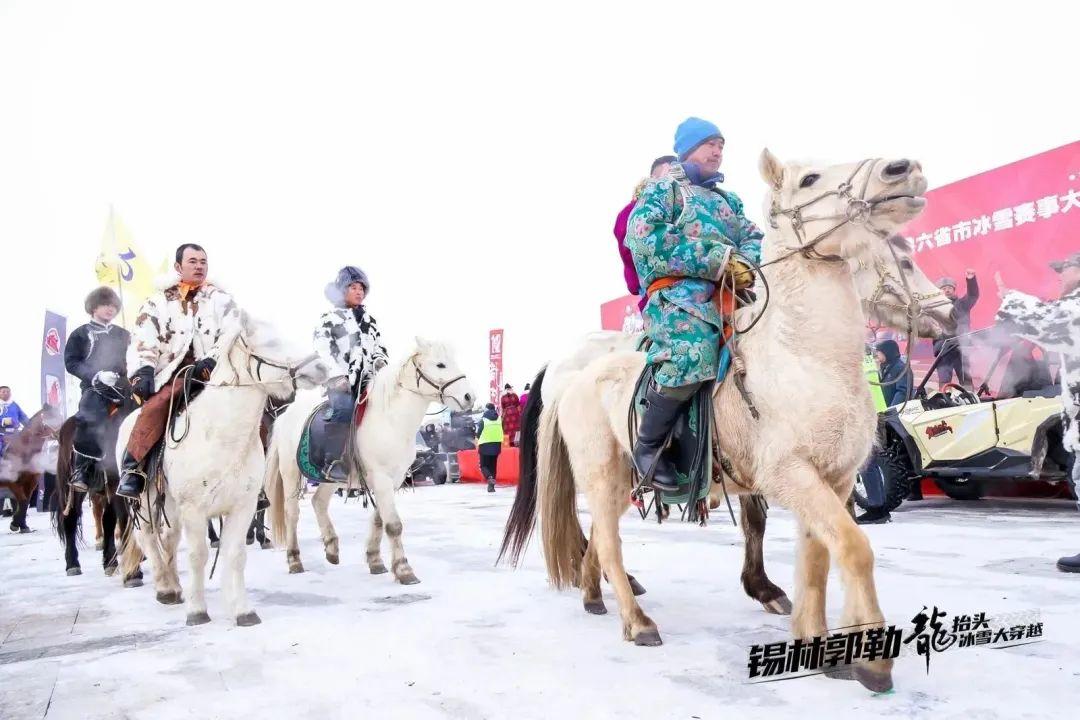
M329 378L326 365L313 353L287 343L269 323L241 312L227 330L210 384L258 385L275 399L297 390L321 386Z

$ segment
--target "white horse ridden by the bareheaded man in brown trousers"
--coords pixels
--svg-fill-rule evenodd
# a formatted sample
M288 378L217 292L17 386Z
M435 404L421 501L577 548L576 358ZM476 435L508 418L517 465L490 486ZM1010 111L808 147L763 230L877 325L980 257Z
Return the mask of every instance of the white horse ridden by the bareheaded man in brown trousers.
M227 330L217 367L202 393L166 431L163 467L167 486L163 499L168 522L143 521L124 544L124 576L137 568L143 554L153 567L158 601L184 601L176 569L180 530L188 536L191 562L188 625L210 622L206 612L206 522L221 516L221 581L226 601L238 625L256 625L244 585L247 560L244 536L255 514L266 459L259 423L267 397L288 397L298 388L326 382L326 367L309 355L285 348L266 325L246 315ZM117 454L122 456L138 412L120 427ZM181 436L174 443L170 435ZM150 507L158 501L151 478ZM150 507L143 511L147 515Z

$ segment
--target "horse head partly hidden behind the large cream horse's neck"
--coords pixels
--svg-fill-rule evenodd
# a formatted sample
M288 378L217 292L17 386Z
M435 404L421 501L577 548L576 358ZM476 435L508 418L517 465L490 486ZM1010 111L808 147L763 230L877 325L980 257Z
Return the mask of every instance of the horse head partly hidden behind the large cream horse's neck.
M920 338L940 338L956 330L953 303L913 257L903 235L873 242L867 257L851 260L855 290L874 324Z

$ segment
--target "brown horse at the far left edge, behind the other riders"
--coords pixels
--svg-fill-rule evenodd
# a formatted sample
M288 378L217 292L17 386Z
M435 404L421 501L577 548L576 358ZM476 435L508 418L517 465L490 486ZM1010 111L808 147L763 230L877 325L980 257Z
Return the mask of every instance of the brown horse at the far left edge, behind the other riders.
M0 454L0 488L10 490L15 497L12 532L31 532L26 525L26 511L41 474L52 470L45 443L56 437L63 422L64 413L59 408L45 405L33 413L23 430L4 440L3 453Z

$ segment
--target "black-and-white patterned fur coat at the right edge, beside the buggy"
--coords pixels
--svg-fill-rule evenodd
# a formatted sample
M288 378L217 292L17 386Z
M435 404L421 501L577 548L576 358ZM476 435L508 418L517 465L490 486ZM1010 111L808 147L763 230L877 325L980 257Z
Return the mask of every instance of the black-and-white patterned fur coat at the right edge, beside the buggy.
M997 322L1016 335L1062 354L1062 402L1065 404L1065 449L1080 451L1080 288L1059 300L1043 301L1016 293L1005 295Z

